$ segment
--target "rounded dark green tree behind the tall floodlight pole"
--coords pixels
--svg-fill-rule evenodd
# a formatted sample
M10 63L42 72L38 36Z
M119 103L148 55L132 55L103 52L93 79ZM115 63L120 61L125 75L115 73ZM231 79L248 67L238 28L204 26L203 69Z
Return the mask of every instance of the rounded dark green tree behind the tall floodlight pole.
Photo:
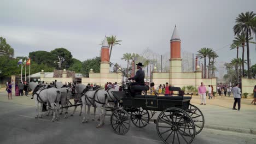
M51 53L54 56L55 68L58 69L68 69L72 65L72 55L65 48L57 48ZM61 63L61 64L60 64Z

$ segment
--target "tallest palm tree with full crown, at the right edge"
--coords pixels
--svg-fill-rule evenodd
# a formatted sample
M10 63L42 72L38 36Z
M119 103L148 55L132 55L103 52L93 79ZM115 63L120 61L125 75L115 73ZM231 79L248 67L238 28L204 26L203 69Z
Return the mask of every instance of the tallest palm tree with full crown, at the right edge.
M256 14L253 13L253 11L249 12L247 11L245 14L241 13L236 17L236 25L233 27L234 33L240 34L245 33L246 34L246 47L247 47L247 70L248 70L248 78L251 78L250 71L250 56L249 56L249 37L252 35L252 31L255 30L255 26L253 25L253 19Z

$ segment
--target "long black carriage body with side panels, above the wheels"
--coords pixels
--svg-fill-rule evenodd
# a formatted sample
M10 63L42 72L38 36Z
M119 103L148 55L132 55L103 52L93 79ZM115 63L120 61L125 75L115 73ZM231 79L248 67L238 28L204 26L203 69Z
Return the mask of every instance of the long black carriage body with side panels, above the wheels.
M150 98L151 97L151 98ZM187 110L191 97L172 96L172 97L156 97L152 95L135 95L135 97L122 98L122 104L125 108L142 107L146 110L163 111L169 107L177 107Z

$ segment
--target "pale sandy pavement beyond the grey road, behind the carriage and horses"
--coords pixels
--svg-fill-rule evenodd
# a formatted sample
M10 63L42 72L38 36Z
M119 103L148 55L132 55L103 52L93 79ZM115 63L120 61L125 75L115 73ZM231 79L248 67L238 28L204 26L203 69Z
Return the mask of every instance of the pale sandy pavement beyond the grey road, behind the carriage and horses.
M252 99L241 99L241 110L232 110L234 98L217 97L206 101L206 105L200 105L200 97L193 95L190 103L199 107L205 117L206 129L216 129L224 131L234 131L238 133L256 135L256 105L251 105ZM31 97L16 97L8 100L5 89L0 89L0 102L11 103L24 106L35 106ZM1 103L0 103L1 104ZM69 109L73 110L73 107ZM80 108L77 109L77 112ZM34 114L34 113L33 113ZM154 118L154 117L153 117Z

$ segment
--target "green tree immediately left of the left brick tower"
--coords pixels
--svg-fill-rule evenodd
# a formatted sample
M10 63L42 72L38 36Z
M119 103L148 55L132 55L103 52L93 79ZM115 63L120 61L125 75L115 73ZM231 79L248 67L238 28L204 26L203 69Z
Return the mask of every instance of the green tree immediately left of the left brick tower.
M89 77L90 69L94 70L94 73L100 73L101 71L101 57L95 57L87 59L83 62L81 72L84 76Z

